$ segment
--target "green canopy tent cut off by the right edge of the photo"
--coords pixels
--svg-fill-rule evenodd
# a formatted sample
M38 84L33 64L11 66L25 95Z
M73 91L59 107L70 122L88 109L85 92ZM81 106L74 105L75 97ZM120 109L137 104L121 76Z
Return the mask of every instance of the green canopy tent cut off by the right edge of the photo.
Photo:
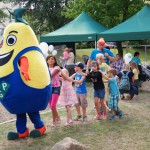
M106 41L130 41L150 39L150 6L144 6L138 13L123 23L100 33Z

